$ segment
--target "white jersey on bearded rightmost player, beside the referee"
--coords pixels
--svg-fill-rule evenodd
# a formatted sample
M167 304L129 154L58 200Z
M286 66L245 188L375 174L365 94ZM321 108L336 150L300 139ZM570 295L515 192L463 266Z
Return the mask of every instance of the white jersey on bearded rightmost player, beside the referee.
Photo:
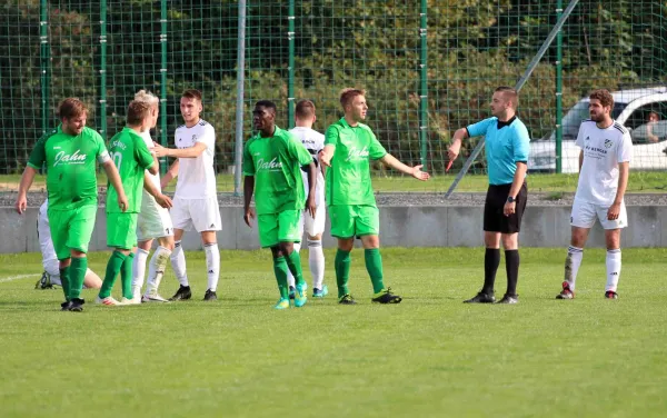
M618 189L618 163L633 159L628 130L616 121L600 129L595 121L586 120L579 127L577 146L584 151L584 163L575 199L611 205Z

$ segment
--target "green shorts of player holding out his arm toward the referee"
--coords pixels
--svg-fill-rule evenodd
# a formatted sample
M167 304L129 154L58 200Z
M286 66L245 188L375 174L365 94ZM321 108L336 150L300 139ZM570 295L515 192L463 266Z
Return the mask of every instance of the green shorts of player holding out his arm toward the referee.
M332 205L329 207L331 236L352 238L380 233L380 211L375 206Z

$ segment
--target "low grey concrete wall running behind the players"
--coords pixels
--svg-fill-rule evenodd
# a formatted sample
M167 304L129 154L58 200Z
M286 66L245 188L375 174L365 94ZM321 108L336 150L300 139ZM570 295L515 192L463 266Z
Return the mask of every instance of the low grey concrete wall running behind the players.
M479 247L482 245L482 207L380 207L380 238L384 247ZM0 252L39 251L37 208L19 216L12 208L0 208ZM221 207L222 230L218 245L223 249L257 249L257 227L243 222L241 207ZM532 206L526 209L520 232L522 247L566 247L569 243L569 207ZM664 221L665 220L665 221ZM667 207L628 207L628 223L623 233L623 247L667 246ZM335 246L325 232L325 247ZM103 209L98 211L90 250L107 248L107 225ZM604 231L596 226L589 247L604 246ZM199 236L186 232L186 249L201 249Z

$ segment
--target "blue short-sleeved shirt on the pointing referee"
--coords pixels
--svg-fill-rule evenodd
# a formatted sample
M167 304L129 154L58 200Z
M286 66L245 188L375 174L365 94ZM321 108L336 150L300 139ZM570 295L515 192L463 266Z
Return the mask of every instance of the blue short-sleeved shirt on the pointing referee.
M510 185L517 162L528 162L528 129L516 116L507 122L492 117L466 128L470 137L486 137L487 167L490 185Z

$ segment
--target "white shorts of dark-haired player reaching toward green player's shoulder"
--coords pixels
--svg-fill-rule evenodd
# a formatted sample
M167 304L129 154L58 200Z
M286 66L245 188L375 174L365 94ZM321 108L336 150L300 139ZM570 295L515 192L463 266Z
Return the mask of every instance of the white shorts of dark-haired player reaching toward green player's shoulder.
M222 229L220 220L220 207L218 198L205 199L179 199L173 198L173 207L170 210L173 228L197 232L219 231Z

